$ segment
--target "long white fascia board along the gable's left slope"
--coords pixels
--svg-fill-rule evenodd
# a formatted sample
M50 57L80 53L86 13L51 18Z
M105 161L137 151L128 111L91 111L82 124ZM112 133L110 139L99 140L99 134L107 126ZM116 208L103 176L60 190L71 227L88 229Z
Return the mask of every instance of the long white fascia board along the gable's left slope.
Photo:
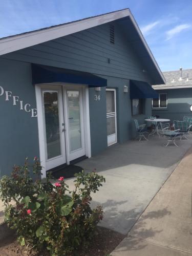
M70 35L105 23L109 23L116 19L129 16L129 14L129 9L125 9L121 11L116 11L108 14L102 14L99 16L82 19L77 22L58 25L52 28L46 28L34 32L32 31L29 33L2 38L0 39L0 55L21 50L30 46L38 45L42 42Z

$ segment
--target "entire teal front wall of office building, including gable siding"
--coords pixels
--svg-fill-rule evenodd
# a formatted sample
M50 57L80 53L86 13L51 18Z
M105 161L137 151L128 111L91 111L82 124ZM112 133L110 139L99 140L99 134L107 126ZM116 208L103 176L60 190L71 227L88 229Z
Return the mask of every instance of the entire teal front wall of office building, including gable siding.
M129 93L123 93L123 86L129 87L130 79L150 82L150 77L142 70L137 53L133 51L122 30L115 24L115 45L110 43L109 24L81 31L73 35L55 39L14 53L0 59L1 81L5 90L12 91L34 108L35 91L31 83L30 63L55 66L90 72L108 79L108 87L117 92L117 138L123 143L136 136L133 119L140 123L151 114L151 100L145 101L145 113L132 116ZM111 62L108 63L110 58ZM107 147L106 100L102 88L100 101L98 94L89 89L90 127L92 156ZM39 154L37 118L18 110L17 106L0 97L0 117L5 124L0 127L1 175L9 173L13 164L22 164L25 157ZM11 159L11 160L10 160Z

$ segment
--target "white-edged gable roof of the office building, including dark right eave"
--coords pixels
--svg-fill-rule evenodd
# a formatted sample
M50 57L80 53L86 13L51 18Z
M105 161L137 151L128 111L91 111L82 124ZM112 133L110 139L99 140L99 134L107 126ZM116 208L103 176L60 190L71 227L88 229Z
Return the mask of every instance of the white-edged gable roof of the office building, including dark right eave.
M70 35L102 24L114 22L115 20L124 21L125 19L127 26L129 26L129 30L127 27L125 27L125 29L129 34L130 44L134 49L136 48L141 62L144 63L146 67L148 67L147 72L150 73L148 75L153 78L152 80L154 84L164 83L165 79L163 74L150 48L148 47L130 9L123 9L98 16L93 16L90 18L80 19L75 22L60 24L49 28L1 38L0 55L38 45L42 42Z

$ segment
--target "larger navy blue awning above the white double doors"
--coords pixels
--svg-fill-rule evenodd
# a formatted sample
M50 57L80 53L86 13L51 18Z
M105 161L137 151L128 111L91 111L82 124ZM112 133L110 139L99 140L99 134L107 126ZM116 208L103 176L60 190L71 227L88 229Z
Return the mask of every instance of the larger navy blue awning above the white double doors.
M61 69L44 65L32 64L32 82L52 83L69 82L88 84L89 87L105 87L107 80L87 72Z

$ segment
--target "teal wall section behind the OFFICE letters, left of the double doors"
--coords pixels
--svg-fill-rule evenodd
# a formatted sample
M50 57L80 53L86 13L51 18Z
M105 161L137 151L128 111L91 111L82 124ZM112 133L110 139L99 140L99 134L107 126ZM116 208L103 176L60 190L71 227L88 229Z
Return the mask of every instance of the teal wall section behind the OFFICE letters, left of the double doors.
M18 102L13 105L12 97L5 100L5 91L11 91L23 104L36 108L31 65L0 58L0 77L0 86L4 88L0 96L0 176L3 176L11 173L14 164L24 164L26 157L32 163L34 156L39 155L39 148L37 118L32 118L31 112L20 110Z

